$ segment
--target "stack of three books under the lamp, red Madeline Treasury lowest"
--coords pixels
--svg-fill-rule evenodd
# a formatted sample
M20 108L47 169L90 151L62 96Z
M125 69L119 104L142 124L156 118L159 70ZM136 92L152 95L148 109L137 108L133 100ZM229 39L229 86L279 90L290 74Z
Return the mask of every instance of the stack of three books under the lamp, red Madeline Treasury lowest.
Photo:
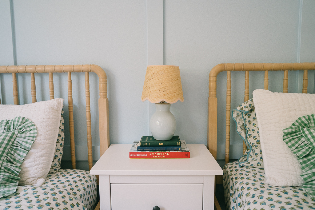
M185 140L180 140L179 136L166 141L142 136L140 141L132 144L129 158L190 158L190 151Z

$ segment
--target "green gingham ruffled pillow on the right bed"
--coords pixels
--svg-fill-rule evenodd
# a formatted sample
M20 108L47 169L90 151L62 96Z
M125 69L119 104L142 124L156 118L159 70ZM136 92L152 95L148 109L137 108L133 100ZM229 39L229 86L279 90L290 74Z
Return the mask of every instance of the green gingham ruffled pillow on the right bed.
M303 190L315 198L315 116L299 117L289 128L283 129L283 140L301 164Z

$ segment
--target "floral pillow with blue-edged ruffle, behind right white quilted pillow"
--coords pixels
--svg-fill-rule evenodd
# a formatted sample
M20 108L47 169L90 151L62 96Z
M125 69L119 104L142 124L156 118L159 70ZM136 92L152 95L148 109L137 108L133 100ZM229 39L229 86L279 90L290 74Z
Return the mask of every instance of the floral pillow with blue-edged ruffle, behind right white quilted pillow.
M236 131L242 137L247 148L245 155L238 159L239 166L263 168L258 122L253 99L249 99L232 110Z

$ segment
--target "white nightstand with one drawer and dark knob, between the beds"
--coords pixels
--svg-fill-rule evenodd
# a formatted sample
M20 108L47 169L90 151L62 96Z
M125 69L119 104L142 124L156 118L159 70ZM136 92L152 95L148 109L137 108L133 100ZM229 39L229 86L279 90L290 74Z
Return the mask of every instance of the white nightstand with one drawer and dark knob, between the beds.
M111 145L90 170L99 175L100 209L214 209L223 171L205 145L187 146L189 159L129 159L131 145Z

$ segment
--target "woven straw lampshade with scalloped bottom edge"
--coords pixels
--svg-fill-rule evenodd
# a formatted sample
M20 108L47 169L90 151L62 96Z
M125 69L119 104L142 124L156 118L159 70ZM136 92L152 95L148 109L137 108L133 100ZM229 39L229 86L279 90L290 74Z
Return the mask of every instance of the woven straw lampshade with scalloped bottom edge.
M151 103L165 101L173 104L178 100L183 102L179 66L148 65L141 96L142 101L146 99Z

